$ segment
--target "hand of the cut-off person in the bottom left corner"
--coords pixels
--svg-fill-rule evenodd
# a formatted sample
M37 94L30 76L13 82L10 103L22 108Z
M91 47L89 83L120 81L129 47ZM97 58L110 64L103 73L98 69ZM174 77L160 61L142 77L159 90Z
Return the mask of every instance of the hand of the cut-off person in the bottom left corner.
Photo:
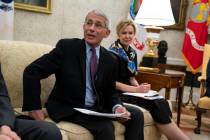
M21 138L9 126L2 125L0 127L0 140L21 140Z

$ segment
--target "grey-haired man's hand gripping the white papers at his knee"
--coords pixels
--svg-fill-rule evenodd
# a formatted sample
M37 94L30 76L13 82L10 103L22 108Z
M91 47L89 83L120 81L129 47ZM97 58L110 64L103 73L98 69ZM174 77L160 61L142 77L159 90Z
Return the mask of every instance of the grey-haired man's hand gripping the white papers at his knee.
M126 122L128 119L130 119L130 112L127 111L127 109L125 107L117 107L115 109L115 114L117 113L122 113L122 117L117 118L117 120L121 123Z

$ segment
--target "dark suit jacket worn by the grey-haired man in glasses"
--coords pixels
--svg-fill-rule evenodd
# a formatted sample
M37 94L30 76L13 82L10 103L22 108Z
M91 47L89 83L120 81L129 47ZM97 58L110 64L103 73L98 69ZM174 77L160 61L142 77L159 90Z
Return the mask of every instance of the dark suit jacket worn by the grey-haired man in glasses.
M99 99L98 111L111 112L121 104L115 90L117 61L105 48L100 48L99 66L96 75L96 90ZM49 116L54 121L72 115L74 107L84 107L86 90L86 46L81 39L60 40L49 54L26 67L23 75L23 110L41 108L40 80L55 74L55 86L46 103Z

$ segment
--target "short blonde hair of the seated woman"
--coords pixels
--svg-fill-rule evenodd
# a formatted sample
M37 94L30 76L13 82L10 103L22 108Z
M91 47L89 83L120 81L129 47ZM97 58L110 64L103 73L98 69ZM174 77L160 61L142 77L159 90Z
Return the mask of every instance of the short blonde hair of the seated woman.
M119 36L120 34L120 30L124 27L127 27L131 25L134 29L134 33L136 34L136 26L135 24L133 23L133 21L129 20L129 19L125 19L125 20L121 20L118 24L117 24L117 27L116 27L116 32L117 32L117 35Z

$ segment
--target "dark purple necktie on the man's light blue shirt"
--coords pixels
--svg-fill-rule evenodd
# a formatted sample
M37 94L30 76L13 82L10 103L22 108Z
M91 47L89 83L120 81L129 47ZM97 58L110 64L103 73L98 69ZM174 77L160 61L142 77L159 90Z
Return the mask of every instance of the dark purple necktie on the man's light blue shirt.
M95 81L94 77L95 77L98 66L97 66L97 58L96 58L96 49L92 48L91 51L92 51L92 55L90 58L90 76L91 76L91 80L94 84L94 81Z

